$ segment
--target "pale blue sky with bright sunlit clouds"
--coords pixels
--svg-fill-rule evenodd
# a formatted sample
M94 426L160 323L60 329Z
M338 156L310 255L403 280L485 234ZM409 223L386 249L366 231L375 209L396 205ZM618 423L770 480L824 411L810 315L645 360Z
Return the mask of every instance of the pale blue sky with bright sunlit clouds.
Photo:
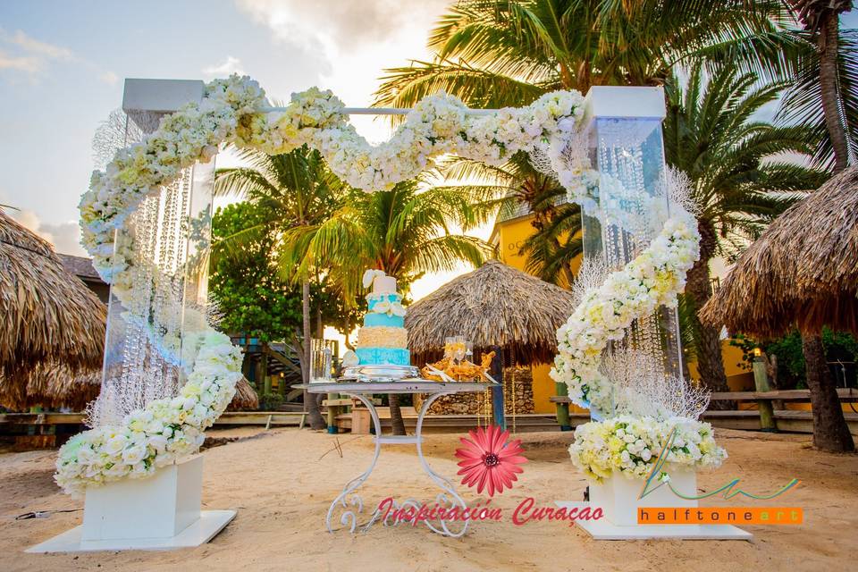
M91 140L121 105L124 78L239 72L273 99L316 85L368 106L384 68L425 57L427 32L448 2L3 0L0 204L20 209L10 212L58 251L83 255L77 205L93 169ZM842 26L858 27L858 13ZM374 142L389 132L381 120L355 124ZM416 283L415 298L454 274Z

